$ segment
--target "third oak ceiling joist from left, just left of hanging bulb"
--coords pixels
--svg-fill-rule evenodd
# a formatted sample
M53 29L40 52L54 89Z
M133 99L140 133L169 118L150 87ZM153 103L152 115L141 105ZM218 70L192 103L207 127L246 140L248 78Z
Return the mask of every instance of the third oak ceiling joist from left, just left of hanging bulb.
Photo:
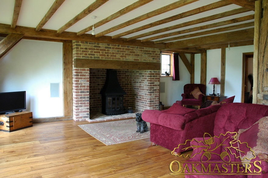
M78 22L79 20L83 19L87 15L89 15L91 12L99 8L101 5L103 5L108 0L96 0L92 4L90 4L86 9L84 9L82 12L80 12L78 15L76 15L74 18L72 18L69 22L67 22L64 26L62 26L60 29L57 30L57 33L62 33L69 27L71 27L73 24Z

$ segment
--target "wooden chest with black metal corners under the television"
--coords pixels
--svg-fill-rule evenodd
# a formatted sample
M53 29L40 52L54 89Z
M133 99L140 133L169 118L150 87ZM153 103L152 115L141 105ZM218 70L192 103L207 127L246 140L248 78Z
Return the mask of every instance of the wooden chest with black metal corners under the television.
M33 113L28 111L0 115L0 130L13 132L33 126Z

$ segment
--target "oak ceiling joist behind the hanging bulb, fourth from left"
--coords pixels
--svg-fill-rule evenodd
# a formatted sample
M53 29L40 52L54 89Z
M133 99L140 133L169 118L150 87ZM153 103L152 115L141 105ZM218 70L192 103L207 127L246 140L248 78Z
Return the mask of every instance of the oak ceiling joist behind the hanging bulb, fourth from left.
M143 5L145 5L145 4L147 4L147 3L151 2L151 1L153 1L153 0L139 0L137 2L134 2L133 4L125 7L124 9L121 9L120 11L115 12L114 14L110 15L109 17L107 17L107 18L95 23L94 27L97 28L99 26L102 26L105 23L108 23L108 22L110 22L110 21L112 21L112 20L114 20L114 19L116 19L116 18L118 18L118 17L120 17L120 16L122 16L122 15L124 15L124 14L126 14L126 13L128 13L128 12L130 12L132 10L134 10L134 9L137 9L137 8L143 6ZM93 27L93 25L89 26L89 27L87 27L87 28L85 28L85 29L83 29L83 30L81 30L79 32L77 32L77 35L82 35L82 34L84 34L86 32L89 32L90 30L92 30L92 27Z

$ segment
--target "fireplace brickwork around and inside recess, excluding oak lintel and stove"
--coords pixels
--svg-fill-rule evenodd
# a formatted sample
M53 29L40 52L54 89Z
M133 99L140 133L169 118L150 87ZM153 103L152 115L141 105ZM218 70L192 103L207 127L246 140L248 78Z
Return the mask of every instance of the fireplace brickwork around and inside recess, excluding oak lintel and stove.
M73 41L73 59L160 62L155 48L107 43ZM135 111L158 109L160 70L136 70L125 66L117 70L118 81L127 93L124 107ZM90 119L90 113L101 113L101 94L106 79L105 68L75 68L73 65L73 119Z

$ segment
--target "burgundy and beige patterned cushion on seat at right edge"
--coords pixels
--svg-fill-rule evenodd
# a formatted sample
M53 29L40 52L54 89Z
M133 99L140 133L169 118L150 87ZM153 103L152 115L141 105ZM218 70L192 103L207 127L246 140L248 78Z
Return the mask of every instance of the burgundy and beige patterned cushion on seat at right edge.
M255 124L247 129L239 129L238 140L240 142L246 142L249 147L252 148L255 155L258 156L259 153L268 153L268 116L261 118ZM239 150L248 150L245 144L239 145ZM245 157L253 158L250 151L243 153L240 152L242 159Z

